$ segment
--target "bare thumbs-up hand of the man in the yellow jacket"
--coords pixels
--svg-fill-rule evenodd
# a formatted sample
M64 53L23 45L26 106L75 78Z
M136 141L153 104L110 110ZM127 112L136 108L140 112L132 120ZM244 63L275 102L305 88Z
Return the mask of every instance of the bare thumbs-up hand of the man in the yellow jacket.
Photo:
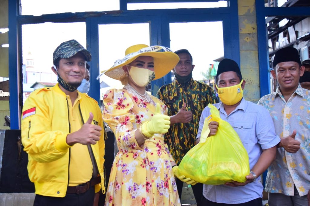
M98 125L91 124L93 122L94 115L93 113L89 113L89 118L83 124L83 126L75 132L67 135L66 143L68 145L73 145L76 143L80 143L83 145L88 144L96 144L99 141L101 136L102 127Z

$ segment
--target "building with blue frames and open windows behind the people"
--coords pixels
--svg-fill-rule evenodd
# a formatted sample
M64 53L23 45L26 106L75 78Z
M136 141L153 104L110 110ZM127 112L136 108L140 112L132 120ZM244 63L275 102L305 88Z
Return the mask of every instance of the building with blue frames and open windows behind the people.
M162 3L161 7L156 2ZM75 7L59 6L66 3ZM269 72L277 49L294 46L302 60L309 58L309 6L309 0L2 0L0 89L1 84L8 84L2 91L9 92L9 97L0 95L0 154L3 145L10 146L3 150L1 171L6 175L0 176L0 201L18 201L33 191L27 182L27 156L20 144L21 110L33 84L56 81L46 70L50 72L52 53L61 42L77 39L91 52L88 94L98 102L104 93L100 82L121 86L97 80L100 71L110 68L128 46L138 43L189 49L195 69L213 64L219 55L207 59L220 48L224 58L239 64L247 83L246 100L257 102L276 85ZM132 26L139 32L132 32ZM219 36L221 41L215 41ZM27 56L29 48L31 55ZM203 57L198 58L200 54ZM196 60L205 65L198 67ZM170 73L153 81L152 94L170 82ZM10 126L4 125L6 116L10 116ZM14 205L0 202L4 204Z

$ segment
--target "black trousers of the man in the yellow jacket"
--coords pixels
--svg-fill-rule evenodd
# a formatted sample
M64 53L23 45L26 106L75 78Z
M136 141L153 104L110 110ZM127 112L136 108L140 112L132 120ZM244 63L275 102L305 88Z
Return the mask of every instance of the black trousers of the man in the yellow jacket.
M93 206L95 186L82 194L67 194L64 197L36 195L33 206Z

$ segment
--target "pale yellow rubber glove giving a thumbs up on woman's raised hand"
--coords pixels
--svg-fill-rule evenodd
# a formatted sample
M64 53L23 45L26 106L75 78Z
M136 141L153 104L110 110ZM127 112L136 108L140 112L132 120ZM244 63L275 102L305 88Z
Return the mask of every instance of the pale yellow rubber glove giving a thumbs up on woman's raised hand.
M166 133L170 128L170 117L160 113L160 104L156 104L156 112L150 121L144 122L140 129L147 136L152 137L154 134Z

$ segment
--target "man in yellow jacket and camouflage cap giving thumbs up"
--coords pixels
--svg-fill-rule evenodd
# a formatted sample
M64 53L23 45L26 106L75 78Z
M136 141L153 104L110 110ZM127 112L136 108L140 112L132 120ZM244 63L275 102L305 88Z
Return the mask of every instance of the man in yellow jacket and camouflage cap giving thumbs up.
M77 88L91 54L76 40L53 53L58 84L32 92L22 113L34 205L90 205L104 188L103 120L98 103Z

